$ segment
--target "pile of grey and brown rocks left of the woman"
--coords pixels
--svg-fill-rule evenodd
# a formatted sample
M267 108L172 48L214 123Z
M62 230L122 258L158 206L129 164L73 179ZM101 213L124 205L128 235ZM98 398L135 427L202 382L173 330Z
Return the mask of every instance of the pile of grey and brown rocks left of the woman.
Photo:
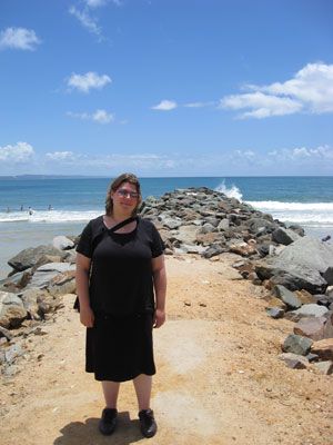
M28 357L30 335L44 335L43 323L62 307L62 296L75 293L75 237L59 236L49 246L20 251L0 280L0 368L14 375L19 357Z

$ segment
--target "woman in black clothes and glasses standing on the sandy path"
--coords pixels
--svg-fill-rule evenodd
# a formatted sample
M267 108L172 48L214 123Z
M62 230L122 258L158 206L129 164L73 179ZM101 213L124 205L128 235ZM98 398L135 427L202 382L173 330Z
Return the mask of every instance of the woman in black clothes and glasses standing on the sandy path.
M120 383L130 379L142 434L152 437L157 432L150 408L152 327L165 322L167 278L163 241L152 222L137 216L141 199L138 178L119 176L108 191L105 215L85 226L77 247L85 370L102 383L105 408L99 428L104 435L115 429Z

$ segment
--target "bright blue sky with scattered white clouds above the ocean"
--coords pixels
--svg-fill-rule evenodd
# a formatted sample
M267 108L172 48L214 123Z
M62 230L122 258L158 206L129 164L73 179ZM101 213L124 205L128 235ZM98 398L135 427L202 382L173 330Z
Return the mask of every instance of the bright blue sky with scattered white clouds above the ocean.
M331 0L1 0L0 175L333 175Z

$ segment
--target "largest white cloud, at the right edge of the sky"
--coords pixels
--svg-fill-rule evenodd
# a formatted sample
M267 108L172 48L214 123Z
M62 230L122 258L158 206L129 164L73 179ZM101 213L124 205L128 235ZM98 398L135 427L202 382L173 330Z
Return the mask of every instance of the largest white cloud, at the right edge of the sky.
M250 109L241 118L266 118L295 112L333 112L333 65L307 63L285 82L248 85L251 92L226 96L219 108Z

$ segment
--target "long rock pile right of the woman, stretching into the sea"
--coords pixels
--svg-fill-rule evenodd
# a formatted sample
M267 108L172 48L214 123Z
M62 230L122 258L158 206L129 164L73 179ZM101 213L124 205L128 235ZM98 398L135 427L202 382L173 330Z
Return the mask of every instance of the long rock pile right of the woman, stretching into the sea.
M294 322L280 358L292 368L333 373L332 244L206 188L150 197L141 214L159 228L167 254L240 255L234 267L242 277L270 291L268 315Z

